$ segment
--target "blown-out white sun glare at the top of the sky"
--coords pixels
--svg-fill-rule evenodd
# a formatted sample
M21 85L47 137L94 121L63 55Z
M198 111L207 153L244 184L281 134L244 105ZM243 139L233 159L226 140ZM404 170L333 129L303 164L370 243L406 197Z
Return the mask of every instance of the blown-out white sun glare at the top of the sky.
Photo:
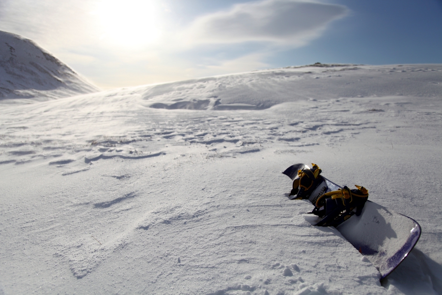
M102 37L122 47L154 44L160 37L159 10L149 0L102 0L94 11Z

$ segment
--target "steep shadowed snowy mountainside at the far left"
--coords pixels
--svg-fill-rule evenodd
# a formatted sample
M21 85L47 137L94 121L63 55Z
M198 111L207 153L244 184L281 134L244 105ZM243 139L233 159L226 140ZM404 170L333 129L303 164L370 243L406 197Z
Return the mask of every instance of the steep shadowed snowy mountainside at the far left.
M31 40L0 31L0 100L44 100L98 90Z

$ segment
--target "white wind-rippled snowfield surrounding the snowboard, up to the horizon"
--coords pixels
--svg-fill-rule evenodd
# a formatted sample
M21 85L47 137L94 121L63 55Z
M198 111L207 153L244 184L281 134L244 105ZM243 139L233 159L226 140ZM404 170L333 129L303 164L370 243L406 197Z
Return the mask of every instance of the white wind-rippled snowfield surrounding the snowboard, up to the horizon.
M441 94L438 64L321 65L3 99L0 294L441 294ZM295 163L421 225L382 284Z

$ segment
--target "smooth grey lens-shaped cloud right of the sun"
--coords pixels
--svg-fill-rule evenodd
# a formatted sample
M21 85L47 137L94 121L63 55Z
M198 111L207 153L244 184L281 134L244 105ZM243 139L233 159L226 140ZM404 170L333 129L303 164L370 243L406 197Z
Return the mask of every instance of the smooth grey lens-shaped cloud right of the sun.
M316 1L263 0L199 17L186 33L189 45L258 41L297 47L347 12L342 5Z

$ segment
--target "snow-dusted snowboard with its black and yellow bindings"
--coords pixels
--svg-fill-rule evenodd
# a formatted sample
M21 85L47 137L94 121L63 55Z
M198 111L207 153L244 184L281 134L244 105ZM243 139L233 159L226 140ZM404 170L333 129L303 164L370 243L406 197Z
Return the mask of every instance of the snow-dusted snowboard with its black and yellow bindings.
M321 176L319 171L315 175L318 169L317 165L310 168L298 163L282 172L293 181L289 199L308 199L314 206L310 212L314 216L304 216L305 219L308 222L316 220L317 226L335 227L376 266L381 273L380 279L385 279L419 240L422 232L419 224L408 216L370 202L368 190L362 186L350 189ZM391 238L392 235L395 238Z

